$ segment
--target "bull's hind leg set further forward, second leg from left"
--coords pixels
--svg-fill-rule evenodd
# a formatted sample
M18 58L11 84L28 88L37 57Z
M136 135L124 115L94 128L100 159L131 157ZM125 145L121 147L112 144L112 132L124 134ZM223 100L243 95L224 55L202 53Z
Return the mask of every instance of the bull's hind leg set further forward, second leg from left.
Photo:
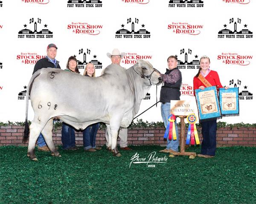
M53 119L49 119L47 124L44 126L44 129L42 130L42 134L47 146L49 147L49 150L51 151L52 156L61 156L52 141L52 127Z

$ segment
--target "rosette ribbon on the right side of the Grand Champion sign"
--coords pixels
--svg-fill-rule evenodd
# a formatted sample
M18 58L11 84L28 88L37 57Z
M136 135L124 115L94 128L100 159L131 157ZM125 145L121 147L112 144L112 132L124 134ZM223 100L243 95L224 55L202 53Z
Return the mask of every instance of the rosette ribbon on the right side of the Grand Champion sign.
M198 132L196 130L196 116L194 113L190 114L187 116L187 121L189 122L189 129L187 133L187 138L186 138L186 144L200 144L199 137L198 137Z

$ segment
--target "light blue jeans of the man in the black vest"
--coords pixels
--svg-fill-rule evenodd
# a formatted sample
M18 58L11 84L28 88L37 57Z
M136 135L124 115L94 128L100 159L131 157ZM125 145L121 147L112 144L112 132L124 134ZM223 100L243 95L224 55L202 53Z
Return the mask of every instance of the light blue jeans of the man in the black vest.
M170 103L165 103L161 105L161 115L163 118L163 123L164 123L164 127L167 128L168 125L168 117L170 115ZM173 140L169 140L169 136L167 137L167 146L166 149L168 150L174 150L176 152L178 152L178 147L179 147L179 131L178 131L178 127L177 127L177 122L175 120L175 129L176 129L176 134L177 134L177 139Z

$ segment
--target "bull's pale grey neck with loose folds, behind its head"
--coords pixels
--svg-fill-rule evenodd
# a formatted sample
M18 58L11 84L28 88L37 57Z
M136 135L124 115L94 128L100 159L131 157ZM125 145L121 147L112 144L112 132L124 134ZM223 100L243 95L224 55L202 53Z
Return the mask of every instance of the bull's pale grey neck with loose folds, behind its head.
M141 78L140 75L137 74L132 67L126 71L128 74L129 85L135 96L135 104L133 110L133 114L135 116L139 112L141 101L145 98L151 86L145 85L144 80L148 79Z

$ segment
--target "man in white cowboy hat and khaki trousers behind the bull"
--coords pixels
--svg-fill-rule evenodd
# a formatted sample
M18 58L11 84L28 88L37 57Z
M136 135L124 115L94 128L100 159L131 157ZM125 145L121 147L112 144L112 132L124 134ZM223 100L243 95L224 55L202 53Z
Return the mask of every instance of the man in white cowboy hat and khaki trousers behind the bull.
M120 65L121 59L125 57L125 52L120 53L118 49L113 49L112 53L107 53L107 56L111 59L112 64ZM107 147L108 147L108 131L105 133L106 140L107 140ZM121 150L131 150L130 147L128 147L128 142L127 142L127 127L122 128L119 130L119 138L120 138L120 149Z

